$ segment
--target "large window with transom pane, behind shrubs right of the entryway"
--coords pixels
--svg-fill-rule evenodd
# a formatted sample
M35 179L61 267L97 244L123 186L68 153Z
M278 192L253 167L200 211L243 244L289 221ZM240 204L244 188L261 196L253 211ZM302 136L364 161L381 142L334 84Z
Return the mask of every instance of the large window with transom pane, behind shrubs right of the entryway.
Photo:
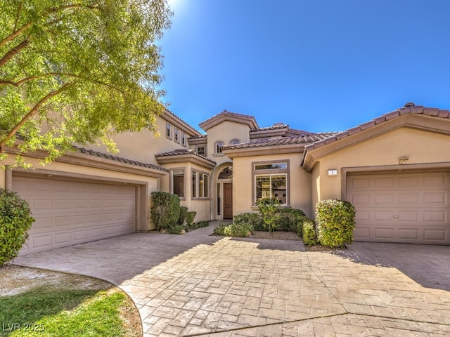
M253 202L276 198L289 204L289 161L260 162L253 164Z

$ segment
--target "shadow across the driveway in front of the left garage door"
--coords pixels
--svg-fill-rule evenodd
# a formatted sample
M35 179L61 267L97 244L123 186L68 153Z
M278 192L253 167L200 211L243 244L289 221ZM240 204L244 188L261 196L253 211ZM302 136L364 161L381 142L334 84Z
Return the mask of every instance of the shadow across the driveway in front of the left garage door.
M15 265L89 275L113 284L141 274L198 245L222 239L213 225L183 235L134 233L15 258Z

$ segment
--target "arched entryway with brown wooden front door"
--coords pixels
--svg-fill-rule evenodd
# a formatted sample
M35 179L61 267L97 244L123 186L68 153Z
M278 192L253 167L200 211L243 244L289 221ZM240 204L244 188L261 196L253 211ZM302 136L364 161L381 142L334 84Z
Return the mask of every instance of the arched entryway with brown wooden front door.
M212 218L233 219L233 164L227 162L217 166L213 173L214 202Z

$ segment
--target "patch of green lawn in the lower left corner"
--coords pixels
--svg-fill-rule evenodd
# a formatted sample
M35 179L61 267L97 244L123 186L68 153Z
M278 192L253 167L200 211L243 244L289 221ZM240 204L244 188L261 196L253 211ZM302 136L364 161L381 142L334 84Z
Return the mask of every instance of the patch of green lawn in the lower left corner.
M0 336L139 336L124 319L130 302L117 288L39 286L0 297Z

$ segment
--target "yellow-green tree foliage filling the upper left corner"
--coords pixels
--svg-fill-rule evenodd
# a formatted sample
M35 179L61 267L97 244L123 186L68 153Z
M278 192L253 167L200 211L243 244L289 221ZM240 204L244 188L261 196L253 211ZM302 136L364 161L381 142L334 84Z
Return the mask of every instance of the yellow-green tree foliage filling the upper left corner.
M0 5L0 159L51 161L73 143L155 130L167 0L4 0Z

